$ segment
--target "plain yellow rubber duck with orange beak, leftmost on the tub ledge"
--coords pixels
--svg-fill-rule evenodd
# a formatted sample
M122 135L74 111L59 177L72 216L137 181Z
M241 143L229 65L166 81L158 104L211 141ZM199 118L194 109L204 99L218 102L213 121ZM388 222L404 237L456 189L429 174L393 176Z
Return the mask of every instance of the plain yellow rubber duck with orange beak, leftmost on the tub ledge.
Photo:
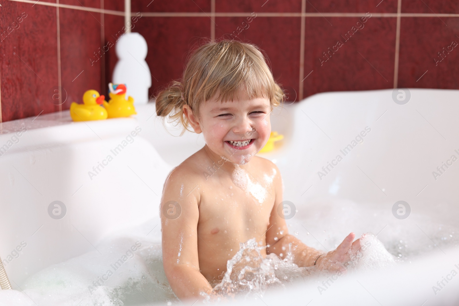
M101 106L105 96L90 89L83 95L83 104L72 102L70 105L70 117L73 121L103 120L108 117L107 111Z

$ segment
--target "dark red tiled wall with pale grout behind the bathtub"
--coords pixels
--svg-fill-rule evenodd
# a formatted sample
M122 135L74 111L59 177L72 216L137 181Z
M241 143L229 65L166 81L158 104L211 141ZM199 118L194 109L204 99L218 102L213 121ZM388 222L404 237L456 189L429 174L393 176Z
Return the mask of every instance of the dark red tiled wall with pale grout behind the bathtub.
M87 89L107 94L117 56L114 46L101 49L123 31L124 0L0 4L0 121L65 111ZM135 0L131 10L142 14L133 32L148 43L151 95L180 78L202 38L258 45L290 101L336 90L459 88L458 1Z

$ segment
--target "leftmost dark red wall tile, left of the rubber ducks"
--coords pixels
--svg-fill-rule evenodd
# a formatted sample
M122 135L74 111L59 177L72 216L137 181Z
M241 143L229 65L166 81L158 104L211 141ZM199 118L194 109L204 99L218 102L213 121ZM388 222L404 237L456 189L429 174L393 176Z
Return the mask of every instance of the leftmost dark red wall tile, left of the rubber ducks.
M58 111L57 103L48 99L58 78L56 8L0 4L2 121Z

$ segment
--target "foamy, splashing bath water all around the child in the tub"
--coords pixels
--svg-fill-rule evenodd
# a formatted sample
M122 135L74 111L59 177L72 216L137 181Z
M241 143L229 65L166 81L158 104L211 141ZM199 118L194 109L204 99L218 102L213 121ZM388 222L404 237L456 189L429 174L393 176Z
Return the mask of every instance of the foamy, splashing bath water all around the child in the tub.
M457 247L457 216L448 220L442 216L445 214L441 211L438 215L412 212L409 218L399 220L392 216L390 208L327 200L301 206L287 223L290 234L321 250L335 249L350 231L364 233L362 251L353 254L347 263L348 274L396 268L417 256L439 252L440 248ZM113 234L95 245L96 250L35 273L18 284L23 291L14 284L17 290L0 290L0 305L181 304L162 267L159 230L156 236L148 235L147 229L158 224L156 218L124 234ZM236 295L261 297L268 288L285 288L305 279L325 290L327 279L336 278L336 273L317 271L316 267L297 267L288 250L284 260L274 254L263 258L260 250L254 239L241 243L240 250L228 261L222 282L211 295L203 294L204 300L195 305L230 300Z

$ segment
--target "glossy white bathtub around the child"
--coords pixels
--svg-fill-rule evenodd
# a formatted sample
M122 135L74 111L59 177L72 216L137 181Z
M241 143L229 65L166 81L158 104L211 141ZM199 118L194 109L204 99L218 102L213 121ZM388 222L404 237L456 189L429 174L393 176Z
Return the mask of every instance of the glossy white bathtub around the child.
M459 157L459 90L409 92L404 105L386 89L323 93L275 110L272 130L285 138L273 152L260 154L278 165L284 200L297 208L288 220L291 233L327 250L350 231L379 234L392 246L399 236L414 237L412 250L401 251L409 261L349 275L326 292L310 280L237 305L459 305L459 276L440 291L432 289L452 269L459 272L459 233L442 239L446 229L435 228L459 224L459 161L432 174L452 155ZM0 146L7 150L0 156L0 256L13 289L22 290L24 280L45 267L96 250L113 232L148 220L159 224L167 173L204 141L188 132L168 134L152 103L136 108L138 115L127 119L71 122L64 111L1 124ZM12 139L22 127L27 131ZM365 128L363 143L343 154ZM123 149L115 156L118 145ZM324 171L337 155L342 160ZM98 162L106 166L96 172ZM56 200L67 209L62 219L48 213ZM392 215L399 200L411 208L403 220ZM160 241L159 227L152 236ZM1 298L0 292L3 305Z

